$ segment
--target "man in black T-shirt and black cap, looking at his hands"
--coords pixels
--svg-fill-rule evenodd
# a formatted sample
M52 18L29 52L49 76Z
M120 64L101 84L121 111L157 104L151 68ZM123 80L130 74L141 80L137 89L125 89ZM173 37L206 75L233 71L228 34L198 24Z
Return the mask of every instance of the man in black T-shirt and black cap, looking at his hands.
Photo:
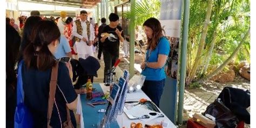
M106 25L103 29L103 33L106 33L100 39L103 44L103 57L104 57L104 77L107 70L110 70L114 65L114 62L119 58L119 44L120 41L124 42L124 33L119 24L119 16L117 14L111 13L109 15L110 24ZM105 78L104 78L105 83Z

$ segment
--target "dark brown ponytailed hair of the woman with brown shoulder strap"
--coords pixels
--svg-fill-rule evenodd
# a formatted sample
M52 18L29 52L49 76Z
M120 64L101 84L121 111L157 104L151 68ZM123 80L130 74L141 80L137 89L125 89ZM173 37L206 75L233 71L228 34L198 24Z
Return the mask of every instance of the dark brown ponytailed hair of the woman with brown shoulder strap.
M40 21L32 29L30 43L24 50L24 62L27 68L45 71L56 64L48 45L60 38L58 26L51 21ZM41 48L36 51L37 47Z

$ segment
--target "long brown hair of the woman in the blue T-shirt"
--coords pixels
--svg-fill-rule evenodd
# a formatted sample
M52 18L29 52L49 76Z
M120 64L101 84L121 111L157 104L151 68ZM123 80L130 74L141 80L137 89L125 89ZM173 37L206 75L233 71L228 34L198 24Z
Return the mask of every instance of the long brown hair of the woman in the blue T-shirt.
M144 23L143 26L147 26L153 30L152 38L147 37L147 49L156 49L159 39L163 37L164 29L161 27L160 22L156 18L149 18ZM165 31L164 31L165 32Z

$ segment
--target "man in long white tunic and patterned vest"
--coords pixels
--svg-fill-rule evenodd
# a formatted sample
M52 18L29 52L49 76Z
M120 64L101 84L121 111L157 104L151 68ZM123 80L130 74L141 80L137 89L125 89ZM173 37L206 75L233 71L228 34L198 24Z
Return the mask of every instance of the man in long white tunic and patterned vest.
M73 24L72 35L76 38L74 50L77 52L78 58L87 58L93 56L93 40L95 33L92 24L87 21L87 12L80 11L80 19Z

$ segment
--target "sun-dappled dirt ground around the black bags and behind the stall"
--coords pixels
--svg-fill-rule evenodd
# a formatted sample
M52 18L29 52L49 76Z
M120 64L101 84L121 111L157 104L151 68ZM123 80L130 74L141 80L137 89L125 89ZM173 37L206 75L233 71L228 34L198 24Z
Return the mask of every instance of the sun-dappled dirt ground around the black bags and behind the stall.
M122 56L123 54L120 53L120 57ZM143 54L136 53L134 55L134 63L140 64L143 61L143 58ZM119 63L120 69L129 70L129 59L129 57L121 59ZM135 74L140 74L137 70L134 69L134 71ZM200 84L200 87L198 87L197 89L190 89L186 87L184 95L183 120L191 118L194 113L203 113L206 110L206 107L219 96L219 93L223 90L225 86L232 86L239 89L250 90L250 81L240 77L239 75L236 75L233 82L218 83L208 81ZM250 112L250 107L248 107L247 110ZM179 127L186 127L186 124L180 125ZM250 125L246 124L245 127L250 127Z

